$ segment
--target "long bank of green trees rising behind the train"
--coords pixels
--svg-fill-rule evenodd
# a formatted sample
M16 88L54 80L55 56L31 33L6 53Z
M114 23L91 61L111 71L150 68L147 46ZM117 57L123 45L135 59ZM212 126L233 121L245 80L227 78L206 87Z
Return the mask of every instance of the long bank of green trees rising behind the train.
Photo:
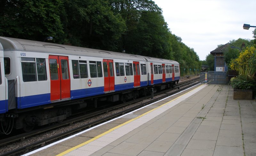
M200 69L193 48L172 34L152 0L3 0L0 36L176 60Z

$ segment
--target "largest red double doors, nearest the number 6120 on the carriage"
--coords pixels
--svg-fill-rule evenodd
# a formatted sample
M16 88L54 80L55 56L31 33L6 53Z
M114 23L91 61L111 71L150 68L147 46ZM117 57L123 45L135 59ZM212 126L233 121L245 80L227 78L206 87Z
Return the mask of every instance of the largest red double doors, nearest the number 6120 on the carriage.
M51 101L70 98L70 76L67 56L49 55Z

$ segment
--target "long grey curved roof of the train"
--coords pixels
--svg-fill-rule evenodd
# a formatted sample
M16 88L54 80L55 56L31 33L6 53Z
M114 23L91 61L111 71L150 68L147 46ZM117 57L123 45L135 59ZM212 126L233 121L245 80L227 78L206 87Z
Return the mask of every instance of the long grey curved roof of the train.
M40 52L40 53L55 53L55 54L66 54L66 55L78 55L78 56L92 56L101 58L113 58L113 59L127 59L135 61L149 61L159 63L175 63L178 62L173 60L158 59L153 57L146 57L140 55L133 55L127 53L118 53L105 50L68 46L61 44L54 44L48 42L32 41L26 39L15 39L9 37L1 37L0 43L3 46L4 51L28 51L28 52ZM1 45L0 44L0 45ZM0 46L1 47L1 46ZM111 55L111 56L110 56Z

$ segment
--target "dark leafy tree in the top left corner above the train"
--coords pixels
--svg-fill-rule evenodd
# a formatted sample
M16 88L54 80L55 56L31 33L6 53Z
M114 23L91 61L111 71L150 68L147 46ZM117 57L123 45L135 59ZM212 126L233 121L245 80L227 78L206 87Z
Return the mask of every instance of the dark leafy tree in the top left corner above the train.
M0 36L43 41L65 38L60 16L61 0L3 0L0 5Z

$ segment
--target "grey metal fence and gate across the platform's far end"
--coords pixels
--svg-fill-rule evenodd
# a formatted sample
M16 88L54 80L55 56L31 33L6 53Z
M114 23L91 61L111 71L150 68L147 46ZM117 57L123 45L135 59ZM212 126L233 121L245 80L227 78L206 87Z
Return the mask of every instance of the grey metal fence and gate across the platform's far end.
M207 73L201 73L200 82L207 82L209 84L227 84L227 72L209 71Z

